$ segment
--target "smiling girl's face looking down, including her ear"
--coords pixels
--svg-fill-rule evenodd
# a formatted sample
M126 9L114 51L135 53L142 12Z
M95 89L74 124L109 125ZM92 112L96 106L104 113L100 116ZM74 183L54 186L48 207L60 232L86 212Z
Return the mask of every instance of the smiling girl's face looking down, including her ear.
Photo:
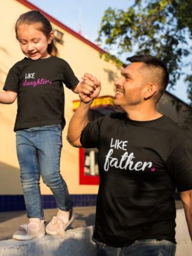
M50 56L47 52L47 47L48 44L51 44L54 33L51 31L49 38L47 38L40 31L40 26L42 26L40 23L22 24L17 29L20 49L31 60L44 59Z

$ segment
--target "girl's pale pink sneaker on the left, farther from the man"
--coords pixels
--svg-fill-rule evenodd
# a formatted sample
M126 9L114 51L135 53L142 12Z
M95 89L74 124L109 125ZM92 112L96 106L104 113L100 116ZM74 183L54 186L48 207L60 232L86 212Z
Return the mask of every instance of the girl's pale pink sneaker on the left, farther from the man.
M28 224L20 225L19 229L13 234L13 239L31 240L36 237L45 236L45 220L30 218Z

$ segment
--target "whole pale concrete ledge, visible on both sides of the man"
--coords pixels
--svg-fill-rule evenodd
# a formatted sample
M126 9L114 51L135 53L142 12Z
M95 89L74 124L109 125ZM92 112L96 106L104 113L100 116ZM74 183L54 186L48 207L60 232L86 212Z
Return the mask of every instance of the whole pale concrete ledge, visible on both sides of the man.
M192 245L184 210L177 210L176 256L191 256ZM96 256L93 227L67 230L65 238L45 236L31 241L0 241L0 256ZM139 256L139 255L138 255Z

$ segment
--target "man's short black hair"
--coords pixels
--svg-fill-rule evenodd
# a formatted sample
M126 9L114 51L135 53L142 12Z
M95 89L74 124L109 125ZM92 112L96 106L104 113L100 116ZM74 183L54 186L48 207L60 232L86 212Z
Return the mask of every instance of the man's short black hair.
M163 92L166 90L166 87L169 83L169 73L166 65L163 61L159 60L158 58L151 56L151 55L134 55L127 58L127 61L132 62L143 62L147 67L156 67L160 68L163 72L163 76L161 77L161 86L163 87Z

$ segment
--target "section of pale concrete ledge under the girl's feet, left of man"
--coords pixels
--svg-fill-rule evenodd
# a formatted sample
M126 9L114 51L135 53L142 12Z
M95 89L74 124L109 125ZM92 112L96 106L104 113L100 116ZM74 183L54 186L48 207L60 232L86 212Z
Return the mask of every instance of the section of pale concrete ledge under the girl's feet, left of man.
M67 230L65 238L45 236L31 241L0 242L1 256L95 256L93 227Z

